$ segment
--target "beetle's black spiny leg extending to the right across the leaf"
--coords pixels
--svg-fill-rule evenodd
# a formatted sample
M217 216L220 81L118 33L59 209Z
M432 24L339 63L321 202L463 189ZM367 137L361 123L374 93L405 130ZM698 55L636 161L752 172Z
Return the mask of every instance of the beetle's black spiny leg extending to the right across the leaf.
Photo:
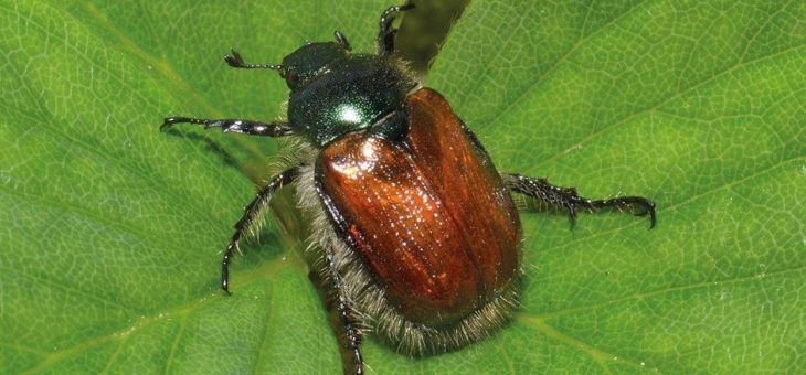
M617 196L605 200L591 200L576 194L574 188L550 184L545 179L534 179L520 174L502 174L503 182L510 190L537 197L549 204L558 204L568 208L571 218L576 217L577 208L598 210L615 208L635 212L637 216L649 215L649 228L655 227L655 203L643 196Z

